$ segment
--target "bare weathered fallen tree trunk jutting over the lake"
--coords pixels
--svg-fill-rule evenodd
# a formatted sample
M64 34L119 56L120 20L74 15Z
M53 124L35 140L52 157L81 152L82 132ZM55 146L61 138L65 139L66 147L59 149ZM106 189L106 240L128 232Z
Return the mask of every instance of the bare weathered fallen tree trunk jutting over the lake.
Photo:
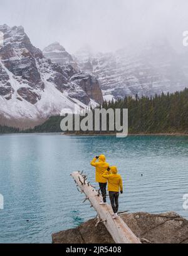
M110 205L100 205L102 196L86 181L86 176L79 172L72 173L71 176L75 179L75 183L78 184L81 192L85 193L91 206L97 211L100 220L103 221L115 243L141 243L120 216L115 220L112 218L113 211Z

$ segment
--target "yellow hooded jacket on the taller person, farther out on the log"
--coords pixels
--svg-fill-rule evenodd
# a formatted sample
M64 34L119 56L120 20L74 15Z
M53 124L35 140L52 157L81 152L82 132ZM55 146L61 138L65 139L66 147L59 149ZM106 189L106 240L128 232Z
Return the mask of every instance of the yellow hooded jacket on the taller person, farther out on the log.
M94 158L91 161L91 166L95 166L96 168L96 181L98 183L107 183L107 179L103 178L103 174L105 173L105 171L107 171L108 167L110 167L110 165L106 162L106 157L104 155L101 155L98 158L98 162L97 162L97 158Z

